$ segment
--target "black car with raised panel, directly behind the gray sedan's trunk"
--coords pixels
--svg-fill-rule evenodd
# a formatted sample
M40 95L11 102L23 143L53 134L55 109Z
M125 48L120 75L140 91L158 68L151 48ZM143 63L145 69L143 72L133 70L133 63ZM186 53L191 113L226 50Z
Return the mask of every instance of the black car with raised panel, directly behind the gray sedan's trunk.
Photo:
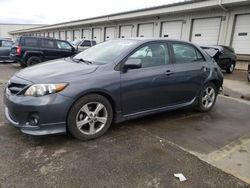
M201 46L204 50L215 49L218 51L214 57L215 61L218 63L221 69L226 70L227 73L233 73L236 66L237 56L233 48L228 46Z

